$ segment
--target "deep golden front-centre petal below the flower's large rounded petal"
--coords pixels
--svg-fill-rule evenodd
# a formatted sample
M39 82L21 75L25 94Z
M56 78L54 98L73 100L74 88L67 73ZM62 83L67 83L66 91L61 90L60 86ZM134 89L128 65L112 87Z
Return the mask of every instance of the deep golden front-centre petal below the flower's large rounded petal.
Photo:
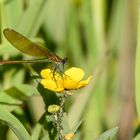
M78 83L79 82L72 80L71 78L65 77L63 80L63 87L68 90L75 89L78 86Z

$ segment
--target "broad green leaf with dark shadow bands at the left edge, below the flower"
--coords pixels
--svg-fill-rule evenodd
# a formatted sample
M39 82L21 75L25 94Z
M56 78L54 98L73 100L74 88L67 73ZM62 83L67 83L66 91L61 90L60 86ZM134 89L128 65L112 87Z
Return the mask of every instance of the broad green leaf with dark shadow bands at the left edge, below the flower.
M13 111L32 95L39 95L34 86L19 84L0 91L0 105L8 111Z

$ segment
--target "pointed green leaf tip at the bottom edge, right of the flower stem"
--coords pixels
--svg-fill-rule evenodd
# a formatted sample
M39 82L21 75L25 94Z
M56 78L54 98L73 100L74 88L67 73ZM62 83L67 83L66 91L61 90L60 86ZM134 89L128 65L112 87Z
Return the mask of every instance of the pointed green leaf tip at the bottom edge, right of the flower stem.
M96 140L114 140L115 135L118 132L118 127L111 128L105 131L101 136L99 136Z

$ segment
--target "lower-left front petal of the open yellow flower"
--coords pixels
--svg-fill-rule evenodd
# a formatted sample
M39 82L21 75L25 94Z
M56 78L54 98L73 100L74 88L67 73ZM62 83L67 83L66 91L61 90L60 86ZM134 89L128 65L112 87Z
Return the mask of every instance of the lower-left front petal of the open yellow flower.
M47 88L54 92L62 92L64 90L64 87L62 87L62 84L60 84L59 82L56 83L53 80L42 79L41 84L44 86L44 88Z

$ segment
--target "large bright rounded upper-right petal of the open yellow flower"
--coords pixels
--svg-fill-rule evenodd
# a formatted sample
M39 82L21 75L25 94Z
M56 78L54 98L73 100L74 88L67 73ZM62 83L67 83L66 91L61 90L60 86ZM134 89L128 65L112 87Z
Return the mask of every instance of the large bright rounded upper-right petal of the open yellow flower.
M65 76L68 76L75 81L82 80L84 75L85 75L84 71L76 67L72 67L65 71Z

